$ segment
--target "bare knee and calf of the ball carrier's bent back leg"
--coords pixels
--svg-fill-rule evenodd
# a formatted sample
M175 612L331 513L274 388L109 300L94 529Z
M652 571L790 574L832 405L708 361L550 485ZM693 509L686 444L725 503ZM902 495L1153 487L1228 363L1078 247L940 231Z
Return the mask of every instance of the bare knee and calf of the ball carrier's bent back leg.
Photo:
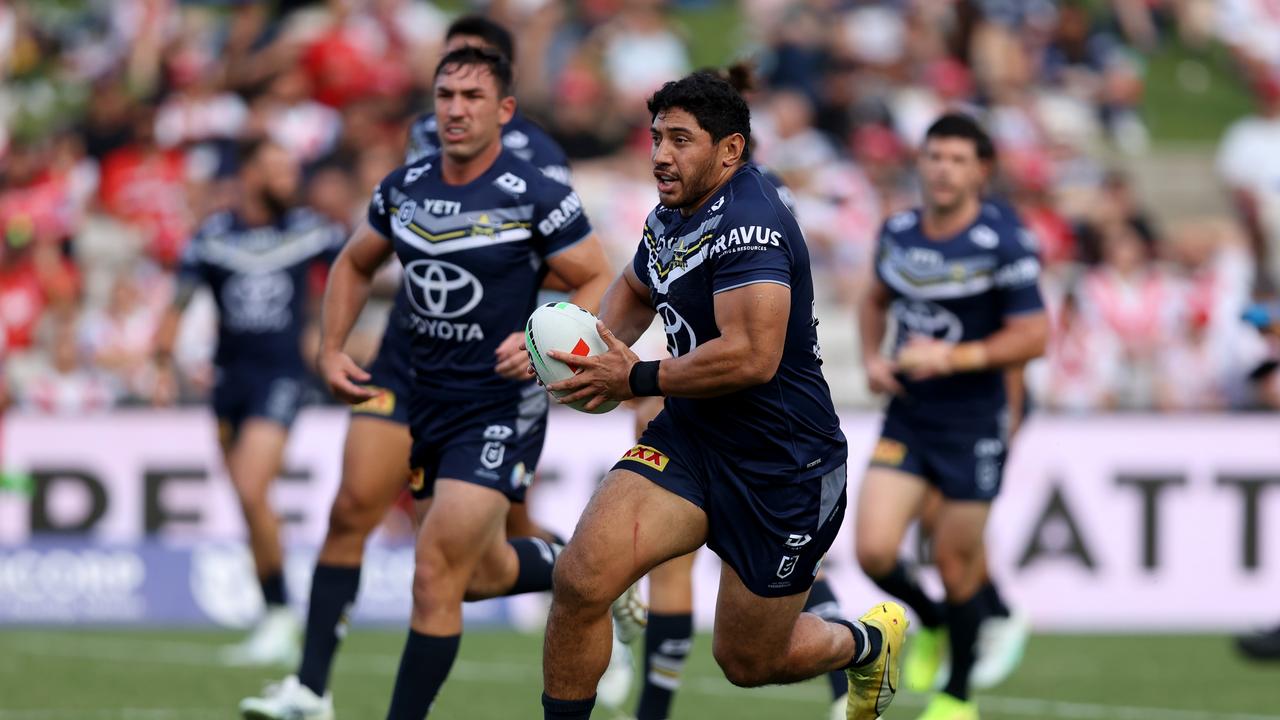
M712 652L728 682L744 688L795 683L849 665L854 633L801 612L808 594L760 597L722 565Z

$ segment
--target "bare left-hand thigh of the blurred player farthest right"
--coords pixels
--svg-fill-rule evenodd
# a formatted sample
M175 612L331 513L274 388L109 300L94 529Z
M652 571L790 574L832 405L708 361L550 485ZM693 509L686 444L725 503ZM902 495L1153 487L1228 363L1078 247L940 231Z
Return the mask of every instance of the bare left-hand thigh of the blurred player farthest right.
M891 564L906 528L920 512L929 484L901 470L870 466L858 493L856 544L864 568Z

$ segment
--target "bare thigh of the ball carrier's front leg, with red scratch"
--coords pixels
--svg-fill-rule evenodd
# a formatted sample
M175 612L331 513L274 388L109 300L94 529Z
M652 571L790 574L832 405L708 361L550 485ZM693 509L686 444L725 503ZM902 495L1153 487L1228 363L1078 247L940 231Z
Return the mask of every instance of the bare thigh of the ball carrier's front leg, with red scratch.
M707 541L707 515L639 473L614 469L591 496L557 562L557 589L617 597L654 566ZM594 585L594 587L588 587Z

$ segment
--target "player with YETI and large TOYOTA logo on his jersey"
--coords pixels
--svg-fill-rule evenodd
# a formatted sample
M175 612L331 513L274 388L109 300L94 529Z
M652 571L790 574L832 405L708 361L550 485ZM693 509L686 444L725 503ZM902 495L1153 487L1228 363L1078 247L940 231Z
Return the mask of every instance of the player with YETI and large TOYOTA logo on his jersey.
M443 152L379 184L325 293L321 374L353 404L376 392L342 348L392 252L413 309L410 487L422 520L390 720L426 716L457 656L463 600L550 589L558 553L540 538L508 539L504 527L536 468L548 405L520 336L548 272L573 302L595 307L608 268L577 193L503 149L511 82L497 53L444 56L435 72Z

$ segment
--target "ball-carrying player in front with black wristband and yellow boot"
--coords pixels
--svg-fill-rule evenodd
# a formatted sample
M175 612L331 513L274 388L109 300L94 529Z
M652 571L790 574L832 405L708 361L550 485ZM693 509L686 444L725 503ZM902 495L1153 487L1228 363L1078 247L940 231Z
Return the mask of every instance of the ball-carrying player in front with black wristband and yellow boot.
M847 717L870 720L892 700L902 609L882 603L855 623L801 612L844 518L847 457L819 366L804 237L748 165L750 111L730 83L694 73L649 110L660 205L602 304L609 351L552 351L581 372L550 389L589 407L667 400L556 568L544 716L590 716L614 598L705 543L724 560L713 652L726 676L763 685L849 669ZM675 356L640 361L628 346L657 313Z

